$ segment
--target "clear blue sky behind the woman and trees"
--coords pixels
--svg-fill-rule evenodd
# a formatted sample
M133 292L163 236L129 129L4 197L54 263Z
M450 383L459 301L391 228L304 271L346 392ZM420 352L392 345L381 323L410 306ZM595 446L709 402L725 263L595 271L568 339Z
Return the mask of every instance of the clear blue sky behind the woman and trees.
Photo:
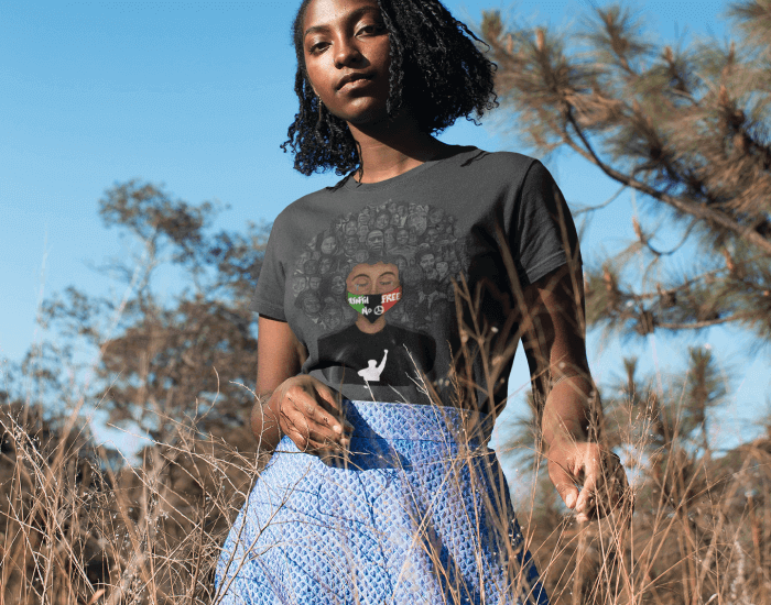
M555 26L588 14L593 3L605 4L446 2L470 23L484 9L500 9L519 22ZM218 199L230 210L217 226L238 229L271 221L296 197L335 180L294 173L279 150L295 111L294 7L291 0L0 3L0 360L19 360L40 338L34 317L42 297L70 284L111 293L89 265L124 253L97 216L112 184L137 177L165 183L194 204ZM633 7L654 40L727 35L721 1L639 0ZM504 118L499 111L482 128L456 125L443 139L521 151L511 136L515 124ZM595 205L617 189L579 158L557 155L547 166L571 202ZM633 207L625 196L620 207L594 218L585 256L633 238ZM665 371L698 342L714 343L726 367L743 370L729 416L734 435L746 431L769 392L768 359L748 358L748 340L739 334L658 339L633 351L593 334L593 370L611 380L620 356L634 352ZM526 382L520 356L512 389Z

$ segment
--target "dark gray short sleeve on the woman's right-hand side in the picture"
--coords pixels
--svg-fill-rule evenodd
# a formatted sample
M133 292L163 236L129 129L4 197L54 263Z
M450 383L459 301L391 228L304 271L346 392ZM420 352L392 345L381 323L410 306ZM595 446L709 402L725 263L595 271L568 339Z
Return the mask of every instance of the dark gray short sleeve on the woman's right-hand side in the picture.
M523 285L537 282L571 257L580 262L578 237L565 198L537 160L525 174L509 238Z

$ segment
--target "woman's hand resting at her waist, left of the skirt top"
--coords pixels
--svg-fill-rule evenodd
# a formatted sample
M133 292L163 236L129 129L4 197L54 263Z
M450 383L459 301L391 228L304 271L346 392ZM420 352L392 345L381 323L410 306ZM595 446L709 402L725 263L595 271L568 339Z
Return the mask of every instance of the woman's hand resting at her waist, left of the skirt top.
M323 382L301 374L281 383L270 406L279 418L281 432L300 451L323 455L350 444L354 427L345 419L339 399Z

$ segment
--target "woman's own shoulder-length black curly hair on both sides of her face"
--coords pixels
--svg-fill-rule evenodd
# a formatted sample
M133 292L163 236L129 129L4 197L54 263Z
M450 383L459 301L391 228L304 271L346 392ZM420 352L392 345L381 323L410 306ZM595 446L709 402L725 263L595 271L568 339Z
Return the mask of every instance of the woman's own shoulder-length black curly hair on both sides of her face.
M477 47L481 41L439 0L377 1L391 46L389 116L408 106L419 128L434 134L460 117L477 123L498 107L495 64ZM343 176L360 167L359 152L346 122L324 108L307 78L303 22L310 3L303 0L292 25L300 111L281 148L291 147L294 168L304 175L334 169Z

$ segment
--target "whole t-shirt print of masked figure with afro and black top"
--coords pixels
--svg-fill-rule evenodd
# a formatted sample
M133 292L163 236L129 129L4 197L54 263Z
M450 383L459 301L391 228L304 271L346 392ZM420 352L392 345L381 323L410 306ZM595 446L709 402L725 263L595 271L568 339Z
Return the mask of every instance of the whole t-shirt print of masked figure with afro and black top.
M432 317L454 312L453 276L467 265L455 218L390 201L338 217L294 263L296 307L316 326L330 383L409 386L431 376Z

